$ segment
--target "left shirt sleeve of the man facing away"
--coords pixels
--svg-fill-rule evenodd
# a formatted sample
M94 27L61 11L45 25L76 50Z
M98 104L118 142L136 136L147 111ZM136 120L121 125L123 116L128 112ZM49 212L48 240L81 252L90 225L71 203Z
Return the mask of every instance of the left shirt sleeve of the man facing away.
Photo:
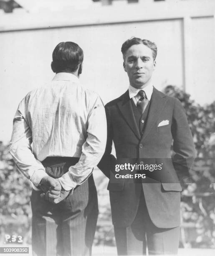
M41 179L48 174L32 152L32 132L25 117L25 105L26 98L20 102L13 119L13 133L9 152L13 156L18 170L30 179L33 188L36 189Z

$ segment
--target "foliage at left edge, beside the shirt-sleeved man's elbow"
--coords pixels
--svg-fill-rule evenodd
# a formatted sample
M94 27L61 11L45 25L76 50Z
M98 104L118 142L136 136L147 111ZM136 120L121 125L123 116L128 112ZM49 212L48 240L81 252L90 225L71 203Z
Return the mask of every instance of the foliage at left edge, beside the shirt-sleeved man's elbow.
M30 182L16 170L8 146L0 142L0 242L5 234L30 240L30 193Z

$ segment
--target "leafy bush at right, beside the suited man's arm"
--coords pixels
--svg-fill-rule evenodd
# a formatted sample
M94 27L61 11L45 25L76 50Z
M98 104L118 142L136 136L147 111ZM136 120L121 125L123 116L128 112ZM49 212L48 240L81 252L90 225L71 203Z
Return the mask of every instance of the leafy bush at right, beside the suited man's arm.
M183 225L185 230L195 231L191 232L192 238L185 238L184 246L215 248L215 102L200 106L189 94L172 85L164 93L182 102L197 151L190 170L193 183L182 192Z

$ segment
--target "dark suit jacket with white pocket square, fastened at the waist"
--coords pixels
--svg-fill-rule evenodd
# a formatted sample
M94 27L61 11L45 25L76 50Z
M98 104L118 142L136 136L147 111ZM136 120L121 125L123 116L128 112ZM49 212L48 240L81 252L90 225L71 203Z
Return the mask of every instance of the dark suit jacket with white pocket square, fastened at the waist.
M150 164L163 163L161 175L155 183L150 178L145 179L144 184L131 184L126 180L118 184L109 182L114 225L128 226L132 223L139 205L141 186L152 222L159 228L180 225L182 187L179 179L187 175L195 158L192 134L180 101L154 88L143 134L140 134L134 118L128 91L106 104L105 108L107 145L98 166L107 177L110 177L110 170L114 172L116 163L111 155L112 141L117 159L136 158L143 159L145 163L150 160ZM169 120L169 124L158 127L163 120ZM172 139L174 159L170 155Z

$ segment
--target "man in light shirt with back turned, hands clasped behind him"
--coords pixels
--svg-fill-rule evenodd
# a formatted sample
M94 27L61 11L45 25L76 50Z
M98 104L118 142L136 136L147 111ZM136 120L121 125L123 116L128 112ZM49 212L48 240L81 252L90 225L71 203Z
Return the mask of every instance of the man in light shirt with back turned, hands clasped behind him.
M78 79L78 44L61 42L52 56L53 80L18 106L10 153L33 184L33 255L89 256L98 218L92 171L106 145L104 105Z

